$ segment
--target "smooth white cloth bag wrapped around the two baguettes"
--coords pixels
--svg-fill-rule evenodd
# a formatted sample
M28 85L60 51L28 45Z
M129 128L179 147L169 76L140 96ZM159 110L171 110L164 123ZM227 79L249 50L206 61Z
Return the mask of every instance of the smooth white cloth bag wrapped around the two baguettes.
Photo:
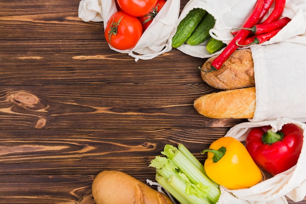
M252 121L289 117L306 122L306 45L252 46L256 109Z

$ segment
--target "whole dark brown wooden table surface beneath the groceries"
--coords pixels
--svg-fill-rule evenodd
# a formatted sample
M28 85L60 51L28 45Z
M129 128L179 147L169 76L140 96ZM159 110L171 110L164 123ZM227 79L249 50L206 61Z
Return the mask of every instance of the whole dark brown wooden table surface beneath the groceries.
M204 59L173 49L135 62L110 50L103 23L83 22L78 6L0 1L0 203L94 204L99 172L154 180L148 166L165 144L204 161L199 152L244 121L194 109L217 91L200 77Z

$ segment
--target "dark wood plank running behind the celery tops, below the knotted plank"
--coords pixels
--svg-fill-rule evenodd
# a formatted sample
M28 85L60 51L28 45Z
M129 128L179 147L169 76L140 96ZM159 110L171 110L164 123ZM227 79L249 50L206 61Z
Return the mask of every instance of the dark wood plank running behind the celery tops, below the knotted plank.
M143 177L154 174L148 166L165 144L183 143L203 161L200 151L228 129L1 131L0 175L95 175L116 169Z

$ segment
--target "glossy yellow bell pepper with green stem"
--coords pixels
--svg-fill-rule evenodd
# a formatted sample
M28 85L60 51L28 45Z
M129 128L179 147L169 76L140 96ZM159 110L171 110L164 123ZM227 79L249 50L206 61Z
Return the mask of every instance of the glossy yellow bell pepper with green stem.
M214 141L207 154L204 169L210 179L228 189L248 188L262 180L262 173L244 145L233 137Z

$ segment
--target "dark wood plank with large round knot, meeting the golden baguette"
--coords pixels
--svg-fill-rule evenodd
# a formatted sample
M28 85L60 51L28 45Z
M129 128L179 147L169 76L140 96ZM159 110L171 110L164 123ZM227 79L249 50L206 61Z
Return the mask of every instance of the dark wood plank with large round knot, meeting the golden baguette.
M59 92L60 90L60 92ZM0 87L0 128L162 129L233 126L211 119L193 101L202 84L98 84Z

